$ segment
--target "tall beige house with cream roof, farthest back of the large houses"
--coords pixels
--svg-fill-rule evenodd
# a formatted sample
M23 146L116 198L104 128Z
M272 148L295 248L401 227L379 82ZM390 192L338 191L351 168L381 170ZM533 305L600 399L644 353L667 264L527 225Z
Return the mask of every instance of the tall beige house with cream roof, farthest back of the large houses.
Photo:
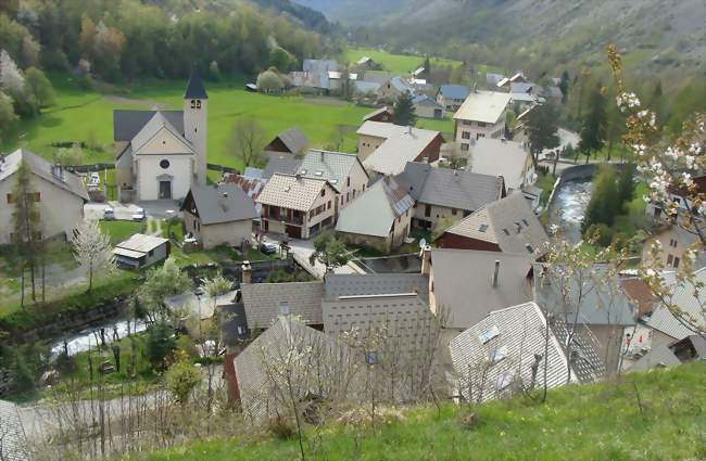
M470 150L480 138L500 139L505 136L508 93L471 91L454 114L454 140L462 152Z

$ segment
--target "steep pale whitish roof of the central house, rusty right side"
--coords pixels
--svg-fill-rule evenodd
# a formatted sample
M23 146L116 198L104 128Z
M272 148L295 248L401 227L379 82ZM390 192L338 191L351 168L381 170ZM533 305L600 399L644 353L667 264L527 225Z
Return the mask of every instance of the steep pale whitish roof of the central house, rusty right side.
M340 212L336 230L384 238L394 220L413 206L414 199L394 180L383 178Z

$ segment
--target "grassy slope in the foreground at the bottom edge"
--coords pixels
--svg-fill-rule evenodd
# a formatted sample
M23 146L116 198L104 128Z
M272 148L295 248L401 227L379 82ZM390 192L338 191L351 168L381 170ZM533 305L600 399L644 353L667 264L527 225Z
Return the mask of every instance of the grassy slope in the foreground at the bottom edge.
M706 363L628 374L621 381L566 386L540 405L518 397L472 411L413 408L375 430L332 425L322 460L682 460L706 458ZM294 440L202 441L143 456L150 461L295 460ZM310 448L311 450L311 448Z

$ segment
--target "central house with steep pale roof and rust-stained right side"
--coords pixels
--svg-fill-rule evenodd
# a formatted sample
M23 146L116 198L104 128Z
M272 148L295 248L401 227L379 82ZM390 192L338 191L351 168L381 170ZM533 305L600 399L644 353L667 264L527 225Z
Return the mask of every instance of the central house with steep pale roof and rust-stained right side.
M341 210L336 233L342 240L389 253L409 234L414 199L386 177Z

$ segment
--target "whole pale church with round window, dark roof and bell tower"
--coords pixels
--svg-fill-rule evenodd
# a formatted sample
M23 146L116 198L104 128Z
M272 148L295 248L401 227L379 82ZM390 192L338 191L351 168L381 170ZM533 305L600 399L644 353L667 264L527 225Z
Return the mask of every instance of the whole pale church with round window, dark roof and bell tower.
M182 111L113 111L121 202L181 200L192 184L206 183L207 101L194 71Z

